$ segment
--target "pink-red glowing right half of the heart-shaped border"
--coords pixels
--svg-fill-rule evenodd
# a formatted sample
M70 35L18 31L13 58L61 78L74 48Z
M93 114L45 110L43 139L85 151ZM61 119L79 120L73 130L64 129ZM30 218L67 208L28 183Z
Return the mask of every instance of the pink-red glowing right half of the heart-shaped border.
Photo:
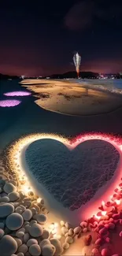
M98 191L98 194L94 195L94 198L91 199L91 202L87 202L86 207L82 207L82 211L79 210L79 214L82 217L82 219L88 219L91 216L94 216L96 219L100 219L101 217L97 215L98 207L103 206L105 202L112 202L112 204L115 204L117 206L120 205L120 200L116 200L116 197L114 198L112 195L115 194L114 190L118 187L118 185L121 185L122 187L122 138L120 136L114 136L114 135L108 135L108 134L102 134L102 133L87 133L87 134L81 134L76 136L76 138L73 138L71 140L68 140L68 148L71 150L74 149L79 145L79 143L83 143L87 140L91 139L102 139L110 144L113 145L113 147L118 150L120 154L120 161L118 162L116 171L113 175L113 178L109 180L109 186L100 188L100 194ZM66 143L67 144L67 143ZM118 191L119 192L119 191ZM118 195L118 192L116 196ZM121 194L122 196L122 194ZM85 214L83 214L83 210L85 211ZM102 210L103 211L103 210ZM105 214L105 212L103 213ZM102 214L102 216L103 216Z

